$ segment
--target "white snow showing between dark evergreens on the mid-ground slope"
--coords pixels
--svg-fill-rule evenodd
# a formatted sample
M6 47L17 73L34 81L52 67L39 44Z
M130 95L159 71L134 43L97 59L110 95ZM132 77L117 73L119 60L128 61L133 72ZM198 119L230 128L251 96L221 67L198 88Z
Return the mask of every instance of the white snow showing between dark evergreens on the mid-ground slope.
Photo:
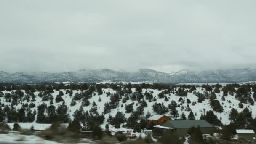
M69 115L70 115L71 119L73 119L73 118L74 118L74 117L73 117L73 113L75 112L76 109L79 109L79 107L81 106L82 101L81 101L81 100L80 100L80 101L76 101L77 104L76 104L75 106L72 106L72 107L71 107L71 106L70 106L70 102L72 101L72 97L68 96L68 94L65 94L65 90L61 90L61 91L64 92L64 96L62 96L62 98L65 100L65 103L66 103L67 106L69 107L68 112L69 112ZM114 91L114 90L111 89L111 88L103 89L103 91L104 91L104 92L108 92L108 91L109 91L110 93L116 93L116 91ZM132 91L135 92L135 89L133 88ZM180 98L180 96L176 96L176 95L173 94L173 93L171 94L171 96L168 96L168 94L166 95L167 97L169 97L169 101L164 101L164 99L159 99L158 96L157 96L159 93L161 93L161 91L159 91L159 90L143 89L142 91L143 91L143 93L145 93L145 91L153 91L153 92L154 92L154 93L153 93L153 96L157 99L157 102L158 102L158 103L163 103L166 107L168 106L168 104L171 103L172 100L173 100L173 101L176 101L177 104L180 104L180 102L178 102L178 99ZM199 91L200 93L203 93L204 90L202 90L201 88L197 88L197 91ZM3 93L7 93L7 91L2 91L2 92L3 92ZM8 92L8 93L10 93L10 92ZM39 96L37 96L38 93L39 93L39 92L35 92L36 101L35 101L34 103L35 103L36 107L35 107L35 108L32 108L32 111L33 111L34 109L37 111L37 106L38 106L39 104L42 104L42 103L43 103L43 102L41 101L41 98L40 98ZM74 95L75 93L80 93L80 90L78 90L78 91L73 91L73 95ZM59 103L56 103L56 102L55 102L56 95L58 95L58 94L59 94L59 91L54 91L54 93L52 93L52 95L53 95L53 97L54 97L54 105L55 105L56 107L58 107L59 104L62 104L62 102L59 102ZM222 96L222 95L223 95L222 91L221 91L221 93L219 93L219 94L216 93L217 99L220 101L220 103L223 103L222 106L223 106L224 112L222 112L222 113L214 112L214 113L219 117L219 119L221 119L221 122L222 122L223 124L229 124L229 123L230 123L230 121L229 121L229 112L231 111L231 109L232 109L232 108L235 108L235 109L238 110L238 112L241 112L243 109L238 107L238 104L240 103L240 101L236 100L236 99L235 99L235 96L228 95L228 96L225 97L226 101L222 101L222 100L221 100L221 96ZM101 102L98 101L99 97L101 97ZM184 101L185 101L185 103L183 104L184 107L187 106L187 103L186 103L186 99L187 99L187 98L190 99L191 102L193 102L193 101L196 101L196 102L197 102L197 96L193 95L192 93L188 93L188 94L187 94L187 97L182 97L182 98L183 98ZM146 99L145 99L145 100L146 100ZM231 103L228 102L229 100L231 101ZM92 96L92 98L90 98L89 101L90 101L91 103L93 103L93 101L96 102L97 107L98 107L98 112L99 112L99 114L101 114L101 113L104 112L104 104L105 104L106 102L110 102L110 96L107 96L105 93L99 96L99 95L96 93L96 95L95 95L95 96ZM5 105L11 105L11 103L5 102L5 98L4 98L4 97L1 98L1 102L2 102L2 104L5 104ZM47 104L47 105L49 105L49 103L50 103L50 101L44 101L44 102L45 102L45 104ZM131 104L132 102L133 102L133 101L131 101L131 99L130 99L130 100L128 100L125 104ZM144 114L147 114L147 112L150 112L151 115L155 115L156 113L153 112L153 110L152 110L152 105L153 105L155 102L153 102L153 101L152 101L152 102L149 102L148 100L146 100L146 102L147 102L147 107L144 108ZM26 103L26 101L24 101L23 103ZM29 104L29 103L31 103L31 101L28 102L28 104ZM139 106L139 104L138 104L138 106L136 106L136 103L137 103L137 102L135 101L135 104L133 105L133 109L134 109L134 110L136 110L136 108ZM121 107L121 104L122 104L122 101L120 101L119 107L117 107L116 109L112 109L112 110L111 110L111 113L104 115L104 116L105 116L105 121L104 121L104 123L101 125L102 128L105 128L105 125L107 124L107 118L109 117L109 115L115 116L115 114L116 114L118 111L121 111L121 112L125 113L125 107ZM123 105L125 105L125 104L123 104ZM192 104L188 104L188 105L189 105L189 107L192 109L192 112L194 112L194 114L196 114L196 115L195 115L195 118L196 118L196 119L199 119L200 116L204 113L204 110L203 110L203 109L205 109L205 112L206 112L206 111L209 111L209 110L212 110L212 108L211 108L211 106L210 106L210 104L209 104L208 99L206 99L206 100L203 101L202 103L197 103L197 104L195 104L194 106L192 106ZM256 105L254 105L254 106L249 105L249 104L243 104L243 105L244 105L244 108L249 106L248 109L252 111L252 116L253 116L253 117L256 116ZM19 108L21 107L21 104L18 104L18 105L15 106L15 107L16 107L16 109L19 109ZM90 105L87 106L87 107L83 107L83 109L84 109L85 111L87 111L87 110L89 111L89 110L91 109L91 107L92 107L92 104L90 104ZM179 114L181 114L182 112L184 112L184 114L185 114L186 116L189 115L189 112L187 112L187 111L185 111L185 110L182 111L182 110L181 110L181 107L177 107L177 110L178 110ZM125 113L125 117L126 117L126 118L130 117L130 115L131 115L131 113ZM166 115L169 115L169 112L166 113ZM11 128L13 127L13 123L8 123L8 124L11 126ZM38 123L36 123L36 122L33 122L33 123L19 123L19 124L21 125L21 128L26 128L26 129L29 129L29 128L33 125L34 128L35 128L35 129L38 129L38 130L43 130L43 129L46 129L46 128L48 128L48 127L50 126L50 124L38 124ZM110 130L112 130L112 131L118 131L118 130L116 130L115 128L113 128L111 125L109 125L109 126L110 126L110 128L109 128ZM120 130L122 130L122 131L127 131L125 128L120 129Z

